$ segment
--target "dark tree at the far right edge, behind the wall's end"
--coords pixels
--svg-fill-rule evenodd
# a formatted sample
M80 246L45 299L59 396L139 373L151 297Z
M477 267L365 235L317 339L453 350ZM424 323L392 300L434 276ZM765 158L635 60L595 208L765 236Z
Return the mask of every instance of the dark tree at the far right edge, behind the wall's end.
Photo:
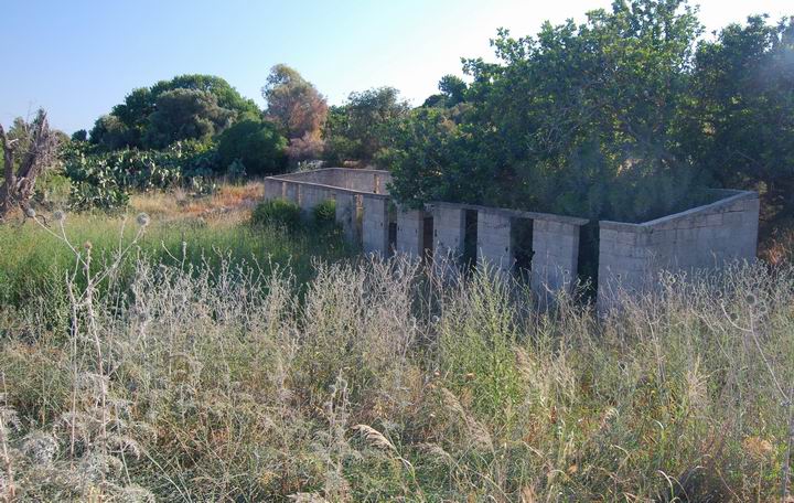
M693 89L680 141L695 162L794 215L794 18L751 17L702 42Z

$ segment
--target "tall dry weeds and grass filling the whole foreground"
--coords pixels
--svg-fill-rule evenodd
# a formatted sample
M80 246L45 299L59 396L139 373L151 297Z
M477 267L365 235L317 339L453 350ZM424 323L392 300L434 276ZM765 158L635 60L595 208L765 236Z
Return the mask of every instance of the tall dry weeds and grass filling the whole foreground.
M318 261L301 288L290 267L160 258L73 306L71 331L39 322L46 301L1 319L0 494L780 497L791 266L664 278L599 318L400 259Z

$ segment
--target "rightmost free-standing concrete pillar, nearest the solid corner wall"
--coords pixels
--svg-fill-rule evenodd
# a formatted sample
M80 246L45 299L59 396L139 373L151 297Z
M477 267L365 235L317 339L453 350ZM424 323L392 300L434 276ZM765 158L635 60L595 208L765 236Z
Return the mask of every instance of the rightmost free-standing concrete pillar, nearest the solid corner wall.
M552 220L533 222L532 289L540 306L557 291L571 291L577 277L579 228Z

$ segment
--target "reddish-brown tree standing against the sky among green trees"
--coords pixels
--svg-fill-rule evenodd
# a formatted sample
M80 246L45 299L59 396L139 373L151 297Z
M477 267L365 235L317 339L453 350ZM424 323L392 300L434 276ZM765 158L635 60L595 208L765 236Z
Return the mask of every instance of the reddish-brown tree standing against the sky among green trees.
M273 66L262 87L262 97L268 104L265 116L287 138L303 138L307 135L320 138L328 116L328 104L314 85L298 71L283 64Z

